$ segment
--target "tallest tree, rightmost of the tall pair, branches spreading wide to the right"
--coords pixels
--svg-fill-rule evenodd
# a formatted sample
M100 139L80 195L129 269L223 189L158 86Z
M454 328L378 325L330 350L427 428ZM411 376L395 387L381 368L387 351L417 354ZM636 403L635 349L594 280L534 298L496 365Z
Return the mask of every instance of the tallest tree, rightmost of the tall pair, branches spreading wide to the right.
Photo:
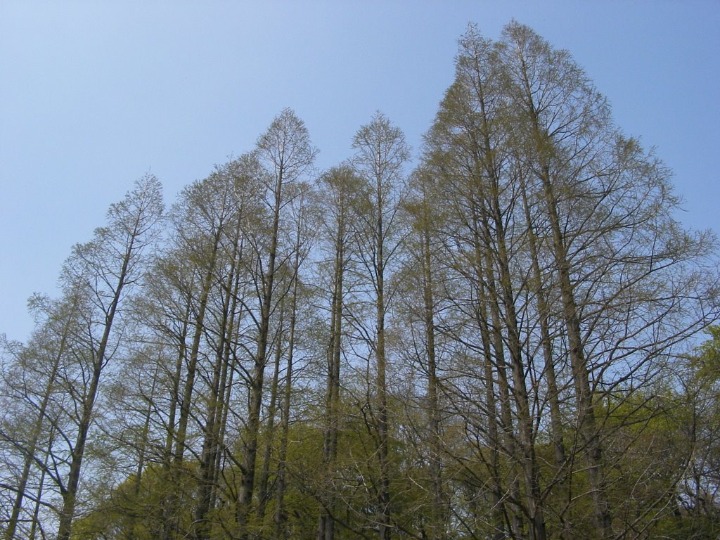
M500 58L509 118L517 126L513 146L534 177L533 198L549 228L595 526L610 538L613 509L595 396L603 385L652 373L647 368L660 351L706 323L701 310L674 331L663 330L684 312L680 297L696 297L701 289L691 281L682 291L670 280L660 293L657 274L670 266L684 273L680 261L698 260L709 245L702 235L678 230L667 170L618 132L605 100L566 51L511 23ZM615 371L618 346L631 366L624 374Z

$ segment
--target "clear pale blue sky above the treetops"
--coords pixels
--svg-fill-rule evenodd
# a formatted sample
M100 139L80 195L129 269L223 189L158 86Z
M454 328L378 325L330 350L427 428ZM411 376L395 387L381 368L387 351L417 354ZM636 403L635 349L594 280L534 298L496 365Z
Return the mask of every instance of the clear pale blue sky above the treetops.
M284 107L318 167L381 110L415 152L469 22L570 50L626 134L675 171L689 227L720 230L720 1L0 0L0 333L57 294L74 243L150 171L166 203L253 148Z

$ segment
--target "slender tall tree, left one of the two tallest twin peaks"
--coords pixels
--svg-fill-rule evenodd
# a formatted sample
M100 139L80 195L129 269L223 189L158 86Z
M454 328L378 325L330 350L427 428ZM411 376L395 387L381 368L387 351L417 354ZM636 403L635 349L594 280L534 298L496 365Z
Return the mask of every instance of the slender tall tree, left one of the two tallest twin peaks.
M485 384L492 388L494 370L500 390L505 444L524 486L524 495L521 495L520 482L517 479L510 482L513 534L523 534L521 516L525 515L530 537L544 539L534 420L526 386L529 362L520 325L524 307L518 293L523 281L518 283L515 274L521 256L518 252L521 236L513 222L516 210L510 194L515 178L503 123L505 96L500 84L500 66L494 45L477 37L472 29L462 40L461 50L456 81L447 92L438 122L428 136L428 143L434 145L428 150L436 170L444 176L451 175L449 181L454 184L457 197L453 204L458 213L458 235L472 239L467 248L462 246L466 240L461 240L461 249L469 250L466 256L472 261L470 268L474 269L474 275L469 277L477 290L477 320L487 366ZM494 400L490 395L488 399ZM488 426L487 431L494 441L491 444L497 444L495 426ZM497 460L493 458L492 469L497 467ZM498 477L495 483L497 497L503 487ZM502 528L500 516L495 518L495 527Z

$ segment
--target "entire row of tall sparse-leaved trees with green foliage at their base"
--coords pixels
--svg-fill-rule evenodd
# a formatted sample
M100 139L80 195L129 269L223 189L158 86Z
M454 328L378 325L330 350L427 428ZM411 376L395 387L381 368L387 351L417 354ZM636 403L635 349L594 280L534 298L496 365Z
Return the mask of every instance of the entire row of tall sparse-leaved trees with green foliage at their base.
M412 170L378 112L316 174L284 109L111 205L2 343L6 540L720 533L714 235L567 51L455 68Z

